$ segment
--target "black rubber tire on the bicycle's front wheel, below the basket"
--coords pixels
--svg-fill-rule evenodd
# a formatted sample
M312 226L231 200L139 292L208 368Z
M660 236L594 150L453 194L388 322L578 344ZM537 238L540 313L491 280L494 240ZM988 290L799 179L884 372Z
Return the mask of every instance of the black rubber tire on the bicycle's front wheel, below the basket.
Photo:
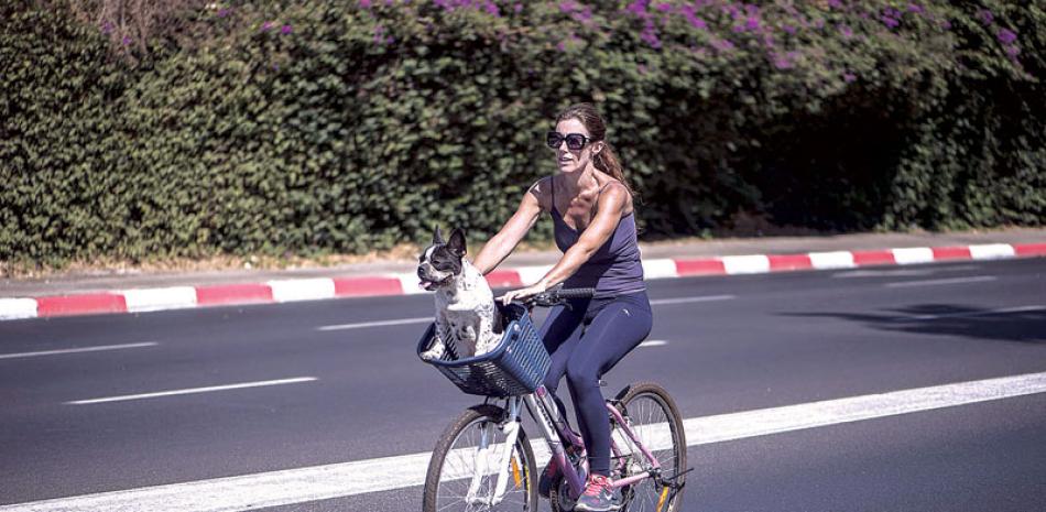
M469 511L522 511L522 512L536 512L537 511L537 467L534 461L534 451L531 449L530 439L526 437L526 432L523 431L522 425L520 426L520 435L515 442L515 450L522 456L524 460L520 464L520 467L516 468L522 475L520 476L521 486L523 487L522 491L513 491L513 497L516 500L508 500L509 493L506 492L506 500L499 503L497 506L476 506L473 504L467 503L464 498L467 493L469 479L457 477L456 472L467 472L461 468L447 468L448 455L453 450L465 448L464 446L455 446L459 439L462 438L462 435L469 434L469 428L471 426L480 426L482 423L490 423L498 425L502 422L505 416L505 411L497 405L475 405L465 410L444 431L443 435L439 436L439 440L436 443L436 448L433 450L432 460L428 464L428 471L425 475L425 491L422 498L422 511L423 512L436 512L436 511L447 511L447 510L469 510ZM493 428L497 431L497 428ZM502 442L503 443L503 442ZM466 445L468 445L468 439L466 439ZM464 454L464 453L462 453ZM460 456L451 456L451 459L464 459ZM489 476L483 479L486 488L490 488L497 481L497 476ZM510 481L510 486L513 483ZM461 508L457 509L454 506L448 508L454 503L454 500L442 499L440 489L461 489L459 492L459 498L461 498L460 503ZM515 495L521 494L521 495ZM522 506L520 506L522 505Z

